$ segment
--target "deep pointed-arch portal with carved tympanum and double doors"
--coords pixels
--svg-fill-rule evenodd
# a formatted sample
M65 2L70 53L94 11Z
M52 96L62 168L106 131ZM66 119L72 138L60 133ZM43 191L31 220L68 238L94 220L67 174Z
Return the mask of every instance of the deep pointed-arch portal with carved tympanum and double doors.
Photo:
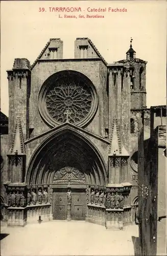
M68 126L68 127L67 127ZM79 132L65 129L52 134L34 153L27 184L52 184L54 219L66 219L67 191L71 190L71 218L84 220L87 185L104 186L106 168L94 145Z

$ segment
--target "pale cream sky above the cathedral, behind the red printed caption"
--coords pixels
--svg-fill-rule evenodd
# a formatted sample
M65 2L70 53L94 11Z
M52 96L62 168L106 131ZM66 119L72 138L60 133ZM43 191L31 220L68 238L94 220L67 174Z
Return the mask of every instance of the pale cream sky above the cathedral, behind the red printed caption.
M81 12L50 12L49 7L80 7ZM88 7L106 8L106 12L88 12ZM109 7L127 12L108 12ZM64 14L77 18L64 18ZM86 18L87 14L104 18ZM147 107L166 104L166 1L1 1L4 114L8 116L9 110L6 70L12 69L14 58L28 58L32 64L50 38L61 38L63 58L74 58L77 37L89 37L108 63L126 58L132 37L136 57L148 61Z

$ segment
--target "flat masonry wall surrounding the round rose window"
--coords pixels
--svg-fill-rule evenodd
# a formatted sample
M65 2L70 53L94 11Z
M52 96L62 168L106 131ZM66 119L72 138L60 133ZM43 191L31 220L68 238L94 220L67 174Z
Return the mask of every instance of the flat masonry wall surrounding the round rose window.
M43 82L55 74L63 70L74 70L81 72L87 76L98 92L99 106L96 115L88 124L87 129L98 135L104 134L104 102L107 101L106 84L102 83L107 78L107 68L102 68L101 61L55 61L55 62L39 62L32 70L31 80L31 96L30 96L30 128L34 128L34 136L50 130L50 127L45 124L40 117L38 111L38 94ZM106 73L106 75L105 75ZM105 78L106 76L106 78ZM106 116L106 115L105 115ZM107 117L106 117L107 118Z

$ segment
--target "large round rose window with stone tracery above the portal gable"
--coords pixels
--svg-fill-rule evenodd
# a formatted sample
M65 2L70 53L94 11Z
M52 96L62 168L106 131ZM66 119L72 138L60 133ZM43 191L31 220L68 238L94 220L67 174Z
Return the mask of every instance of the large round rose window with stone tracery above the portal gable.
M39 111L51 125L64 122L84 125L96 112L97 102L96 90L89 79L78 72L64 71L53 75L42 88Z

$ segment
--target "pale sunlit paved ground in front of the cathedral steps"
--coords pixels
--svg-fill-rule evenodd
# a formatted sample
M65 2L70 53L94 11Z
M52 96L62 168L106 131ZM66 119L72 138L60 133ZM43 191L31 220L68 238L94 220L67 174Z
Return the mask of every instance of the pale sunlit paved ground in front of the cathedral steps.
M138 226L106 230L87 222L52 221L25 227L4 227L1 256L136 255ZM133 239L133 242L132 242Z

